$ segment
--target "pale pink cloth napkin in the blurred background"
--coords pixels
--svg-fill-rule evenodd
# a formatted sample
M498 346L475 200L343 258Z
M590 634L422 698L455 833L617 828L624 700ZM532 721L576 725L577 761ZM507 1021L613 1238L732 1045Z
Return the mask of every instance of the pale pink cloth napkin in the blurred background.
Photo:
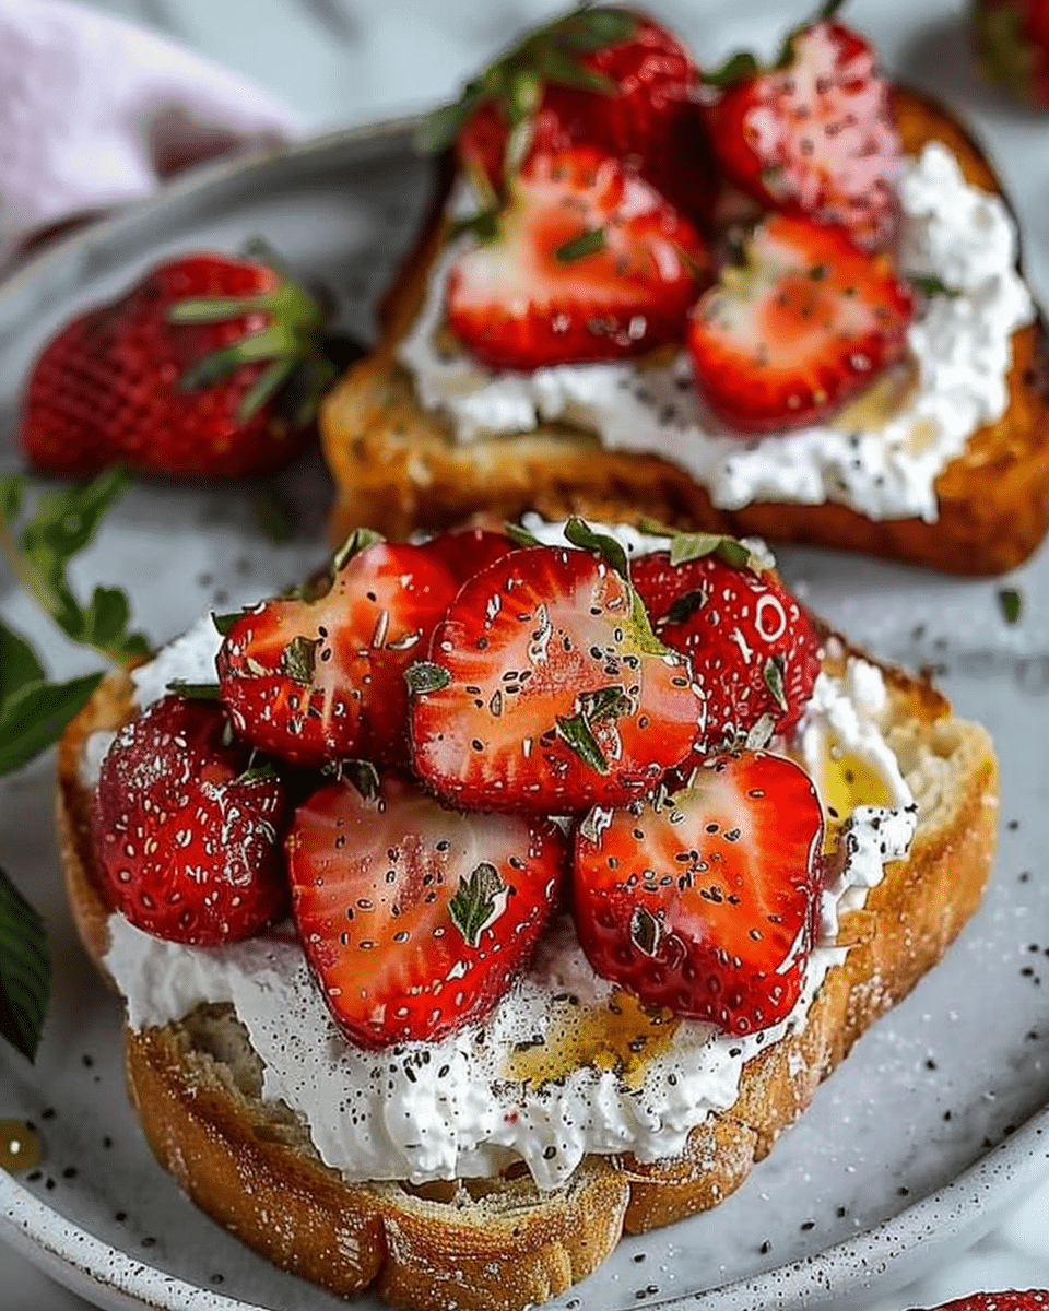
M71 0L0 0L0 262L178 168L295 135L260 87Z

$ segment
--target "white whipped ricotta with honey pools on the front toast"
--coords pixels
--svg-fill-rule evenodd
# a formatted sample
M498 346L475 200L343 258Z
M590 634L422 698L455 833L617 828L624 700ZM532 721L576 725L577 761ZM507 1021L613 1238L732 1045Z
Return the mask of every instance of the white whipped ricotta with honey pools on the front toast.
M631 552L660 545L614 531ZM557 530L543 534L559 540ZM173 678L211 680L219 640L210 619L202 620L136 670L139 704L161 696ZM262 1096L296 1112L321 1159L347 1179L421 1184L490 1175L519 1159L540 1188L556 1188L589 1152L633 1152L643 1162L674 1156L709 1112L734 1103L743 1063L805 1024L826 971L846 954L837 945L839 910L861 906L884 864L902 856L913 838L911 789L882 733L881 674L855 658L843 667L842 676L818 675L800 751L818 779L834 742L877 771L892 804L859 806L846 822L802 996L772 1029L742 1038L691 1020L660 1029L633 1007L645 1050L631 1061L622 1032L607 1044L601 1034L632 1003L594 973L568 916L547 932L528 971L483 1024L441 1042L368 1051L336 1027L291 924L244 943L191 948L114 915L105 964L126 998L129 1023L163 1025L202 1003L232 1003L264 1063ZM85 784L97 777L110 738L96 734L89 742ZM568 1053L561 1065L559 1049Z

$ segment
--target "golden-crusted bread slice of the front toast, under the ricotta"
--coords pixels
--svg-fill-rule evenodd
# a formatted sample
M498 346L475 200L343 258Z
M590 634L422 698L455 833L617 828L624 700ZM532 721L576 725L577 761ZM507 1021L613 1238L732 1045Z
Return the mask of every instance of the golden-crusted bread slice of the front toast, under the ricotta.
M841 667L848 654L831 637L826 650L825 667ZM842 915L839 941L850 950L826 975L806 1024L743 1066L736 1104L695 1129L682 1156L654 1164L590 1156L552 1192L515 1171L424 1188L346 1183L286 1105L261 1100L260 1059L227 1006L125 1030L131 1099L160 1163L275 1264L344 1295L374 1283L408 1311L522 1311L594 1270L624 1230L720 1202L868 1025L943 956L990 876L997 762L987 733L956 717L927 682L892 667L884 676L888 741L918 804L909 855L886 865L861 910ZM94 865L81 756L92 733L135 713L132 691L126 674L104 680L58 758L69 903L104 974L110 907Z

